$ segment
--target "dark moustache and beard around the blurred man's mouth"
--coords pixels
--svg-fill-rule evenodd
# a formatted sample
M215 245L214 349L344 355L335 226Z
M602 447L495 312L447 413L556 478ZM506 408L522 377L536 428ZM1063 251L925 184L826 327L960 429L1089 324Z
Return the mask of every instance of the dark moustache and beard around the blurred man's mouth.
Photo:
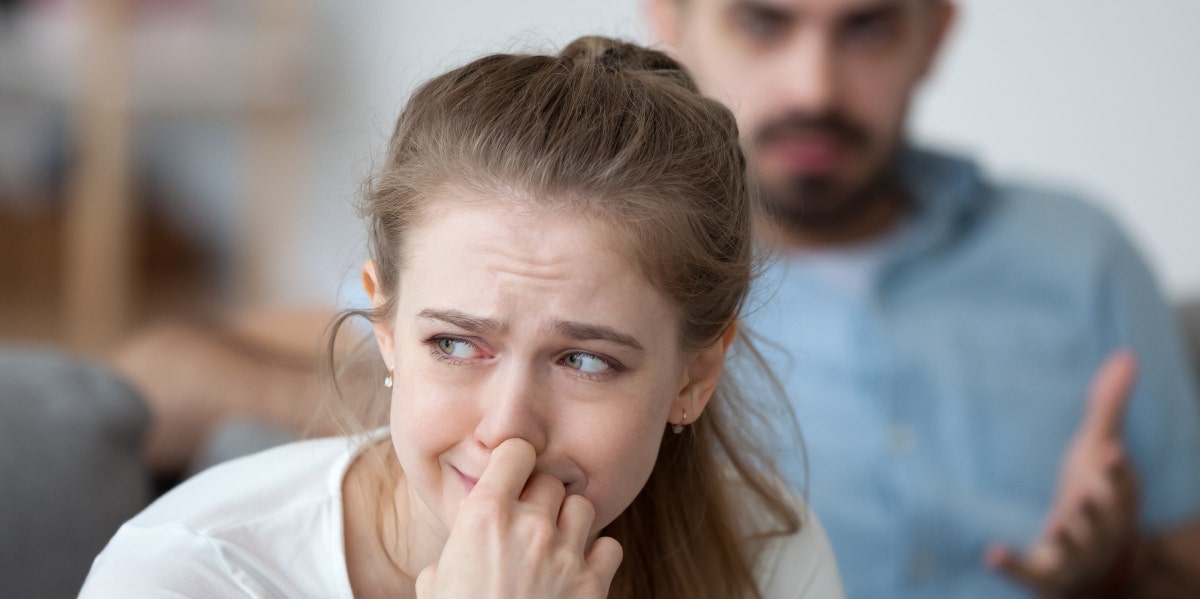
M804 133L835 138L851 151L869 154L871 136L839 114L808 116L788 114L769 121L755 134L756 146ZM893 144L895 145L895 144ZM877 204L899 192L896 148L889 148L880 164L870 167L862 180L846 181L832 175L794 174L781 181L758 180L763 206L779 226L797 233L836 232L853 227Z

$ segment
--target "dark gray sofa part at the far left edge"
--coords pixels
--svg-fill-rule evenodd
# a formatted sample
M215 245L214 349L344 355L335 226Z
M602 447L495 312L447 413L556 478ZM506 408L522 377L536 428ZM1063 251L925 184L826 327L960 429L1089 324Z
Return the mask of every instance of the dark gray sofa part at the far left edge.
M79 593L96 553L150 499L138 459L148 423L137 393L101 365L0 347L0 594Z

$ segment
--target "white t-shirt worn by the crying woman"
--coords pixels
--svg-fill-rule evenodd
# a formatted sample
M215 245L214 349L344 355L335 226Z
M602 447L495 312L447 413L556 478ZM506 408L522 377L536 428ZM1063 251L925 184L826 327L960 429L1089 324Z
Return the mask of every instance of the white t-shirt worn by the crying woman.
M292 443L204 471L126 522L96 557L80 598L352 597L342 479L364 437ZM768 599L842 597L810 513L757 565Z

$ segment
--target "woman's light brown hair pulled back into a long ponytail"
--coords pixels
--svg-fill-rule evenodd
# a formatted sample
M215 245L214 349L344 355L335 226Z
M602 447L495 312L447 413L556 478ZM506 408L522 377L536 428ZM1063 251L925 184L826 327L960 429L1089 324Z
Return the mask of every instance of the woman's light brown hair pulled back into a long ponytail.
M745 304L754 202L737 124L660 52L582 37L557 56L488 55L418 89L365 188L388 301L359 316L391 316L404 241L451 187L606 227L678 309L683 352L719 342ZM778 427L764 414L725 376L702 418L682 435L665 431L646 486L604 531L625 556L612 597L760 594L760 541L800 525L758 441ZM755 519L768 526L751 534Z

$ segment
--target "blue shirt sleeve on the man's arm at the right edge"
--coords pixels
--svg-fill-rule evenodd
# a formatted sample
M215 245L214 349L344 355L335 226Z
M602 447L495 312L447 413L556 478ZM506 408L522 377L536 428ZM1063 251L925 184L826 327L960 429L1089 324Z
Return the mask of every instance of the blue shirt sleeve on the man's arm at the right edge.
M1114 230L1102 306L1106 345L1138 357L1124 435L1138 469L1140 523L1159 531L1200 517L1200 399L1177 315L1128 238Z

